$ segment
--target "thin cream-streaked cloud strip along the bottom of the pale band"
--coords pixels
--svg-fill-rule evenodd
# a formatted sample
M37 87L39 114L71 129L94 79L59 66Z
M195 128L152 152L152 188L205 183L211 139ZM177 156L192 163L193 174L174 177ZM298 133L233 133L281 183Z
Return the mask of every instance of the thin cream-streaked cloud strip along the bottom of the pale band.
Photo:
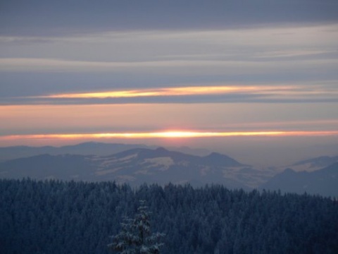
M304 68L325 68L332 69L338 64L337 59L318 59L318 60L295 60L292 64L299 71ZM273 72L278 69L282 71L292 70L289 61L189 61L189 60L171 60L171 61L132 61L132 62L114 62L114 61L69 61L62 59L0 59L0 71L50 71L50 72L105 72L105 71L127 71L127 72L149 72L151 70L160 73L181 73L182 68L187 73L202 71L204 74L211 73L263 73L264 71ZM226 68L226 69L225 69ZM162 69L162 70L161 70Z

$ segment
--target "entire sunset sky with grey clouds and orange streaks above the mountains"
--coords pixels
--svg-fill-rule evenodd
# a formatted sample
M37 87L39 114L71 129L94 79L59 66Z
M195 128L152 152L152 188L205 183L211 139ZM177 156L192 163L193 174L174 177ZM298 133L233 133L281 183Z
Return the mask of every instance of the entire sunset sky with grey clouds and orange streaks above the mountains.
M338 151L335 0L0 2L0 146Z

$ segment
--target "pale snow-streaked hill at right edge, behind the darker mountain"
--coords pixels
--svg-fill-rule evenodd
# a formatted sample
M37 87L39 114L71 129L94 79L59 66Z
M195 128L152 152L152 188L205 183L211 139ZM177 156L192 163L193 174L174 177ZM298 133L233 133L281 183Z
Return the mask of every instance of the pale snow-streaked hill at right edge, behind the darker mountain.
M292 169L295 169L296 171L299 170L314 171L316 169L330 166L335 162L338 162L338 156L333 157L321 156L296 162L292 164Z

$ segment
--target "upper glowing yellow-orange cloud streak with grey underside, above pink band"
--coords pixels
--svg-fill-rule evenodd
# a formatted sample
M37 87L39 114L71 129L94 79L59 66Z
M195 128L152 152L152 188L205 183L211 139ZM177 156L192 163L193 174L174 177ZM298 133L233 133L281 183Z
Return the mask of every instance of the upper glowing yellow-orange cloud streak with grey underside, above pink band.
M199 85L9 97L2 104L130 104L230 102L338 102L337 87L323 85Z

